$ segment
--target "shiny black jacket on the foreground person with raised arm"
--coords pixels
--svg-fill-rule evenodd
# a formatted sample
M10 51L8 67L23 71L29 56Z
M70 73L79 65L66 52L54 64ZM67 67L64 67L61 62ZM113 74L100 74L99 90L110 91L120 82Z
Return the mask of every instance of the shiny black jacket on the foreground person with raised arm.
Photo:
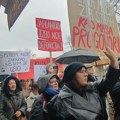
M94 82L92 90L84 91L86 96L64 86L60 93L47 105L49 117L53 120L106 120L101 97L115 85L120 71L112 67L101 82Z

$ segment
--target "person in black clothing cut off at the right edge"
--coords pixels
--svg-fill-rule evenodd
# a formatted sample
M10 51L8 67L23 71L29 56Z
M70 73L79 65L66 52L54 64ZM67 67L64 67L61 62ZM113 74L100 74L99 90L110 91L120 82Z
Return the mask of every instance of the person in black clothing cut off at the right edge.
M120 67L120 58L118 60ZM113 101L113 106L115 110L114 120L120 120L120 78L118 82L114 85L112 90L110 90L110 96Z

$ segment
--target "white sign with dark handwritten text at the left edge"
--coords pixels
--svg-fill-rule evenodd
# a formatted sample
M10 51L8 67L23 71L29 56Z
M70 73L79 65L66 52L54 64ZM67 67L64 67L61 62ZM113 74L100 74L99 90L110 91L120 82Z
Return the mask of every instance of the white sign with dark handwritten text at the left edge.
M0 74L28 72L29 51L0 51Z

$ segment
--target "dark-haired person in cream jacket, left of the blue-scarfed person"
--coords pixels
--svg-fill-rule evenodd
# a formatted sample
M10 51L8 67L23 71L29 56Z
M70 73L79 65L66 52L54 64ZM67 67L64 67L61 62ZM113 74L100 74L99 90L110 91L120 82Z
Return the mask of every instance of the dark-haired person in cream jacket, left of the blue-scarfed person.
M38 88L37 83L33 83L32 89L30 92L30 96L26 100L26 102L27 102L27 117L28 118L29 118L29 115L30 115L30 112L32 109L32 104L37 96L39 96L39 88Z

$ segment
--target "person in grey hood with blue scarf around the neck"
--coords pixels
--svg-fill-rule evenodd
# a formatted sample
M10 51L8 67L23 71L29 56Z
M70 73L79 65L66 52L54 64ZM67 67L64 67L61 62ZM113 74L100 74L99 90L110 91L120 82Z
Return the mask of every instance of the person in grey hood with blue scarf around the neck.
M33 103L30 120L49 120L46 104L54 95L59 93L60 88L58 82L59 78L54 74L47 74L38 79L38 86L42 94Z

